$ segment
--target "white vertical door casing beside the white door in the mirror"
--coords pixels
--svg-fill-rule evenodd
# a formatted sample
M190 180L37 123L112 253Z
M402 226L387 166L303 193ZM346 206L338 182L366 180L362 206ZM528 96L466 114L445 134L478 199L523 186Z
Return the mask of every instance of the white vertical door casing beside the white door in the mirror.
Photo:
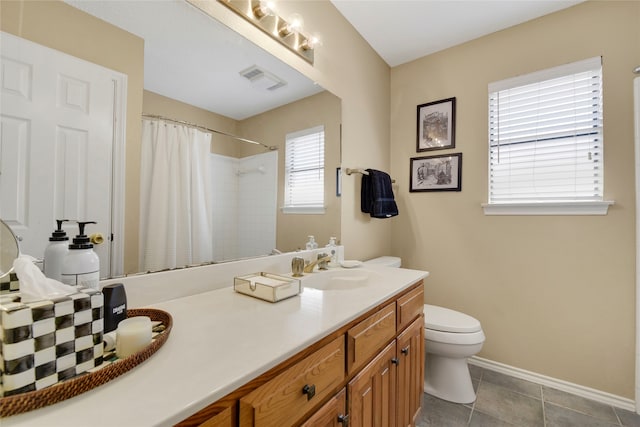
M124 275L124 207L127 142L127 75L113 72L113 164L111 177L111 274Z

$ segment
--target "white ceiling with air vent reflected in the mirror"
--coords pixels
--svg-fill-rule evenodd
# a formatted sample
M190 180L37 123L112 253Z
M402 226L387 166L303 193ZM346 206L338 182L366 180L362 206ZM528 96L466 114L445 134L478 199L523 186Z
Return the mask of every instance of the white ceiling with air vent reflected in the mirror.
M183 0L65 2L144 39L151 92L242 120L324 90ZM254 65L287 84L251 84L239 73Z

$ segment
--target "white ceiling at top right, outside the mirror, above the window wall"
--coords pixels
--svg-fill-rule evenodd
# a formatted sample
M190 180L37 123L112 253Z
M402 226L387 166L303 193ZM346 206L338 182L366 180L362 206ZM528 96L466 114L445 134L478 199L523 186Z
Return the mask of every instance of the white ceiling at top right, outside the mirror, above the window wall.
M331 0L391 67L584 0Z

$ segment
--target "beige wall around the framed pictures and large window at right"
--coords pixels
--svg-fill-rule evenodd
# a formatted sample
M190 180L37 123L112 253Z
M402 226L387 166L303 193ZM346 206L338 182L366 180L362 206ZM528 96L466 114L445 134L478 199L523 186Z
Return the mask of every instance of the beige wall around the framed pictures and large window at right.
M607 216L484 216L487 84L602 55ZM391 72L392 252L431 272L428 302L477 317L480 356L634 397L635 199L631 70L640 3L588 2ZM456 148L416 153L416 106L457 98ZM463 153L462 192L409 193L409 159Z

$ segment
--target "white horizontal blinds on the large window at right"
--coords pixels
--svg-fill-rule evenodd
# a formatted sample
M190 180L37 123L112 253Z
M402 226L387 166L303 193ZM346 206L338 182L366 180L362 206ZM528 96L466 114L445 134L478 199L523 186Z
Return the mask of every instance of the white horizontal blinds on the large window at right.
M489 85L489 204L601 201L600 57Z

